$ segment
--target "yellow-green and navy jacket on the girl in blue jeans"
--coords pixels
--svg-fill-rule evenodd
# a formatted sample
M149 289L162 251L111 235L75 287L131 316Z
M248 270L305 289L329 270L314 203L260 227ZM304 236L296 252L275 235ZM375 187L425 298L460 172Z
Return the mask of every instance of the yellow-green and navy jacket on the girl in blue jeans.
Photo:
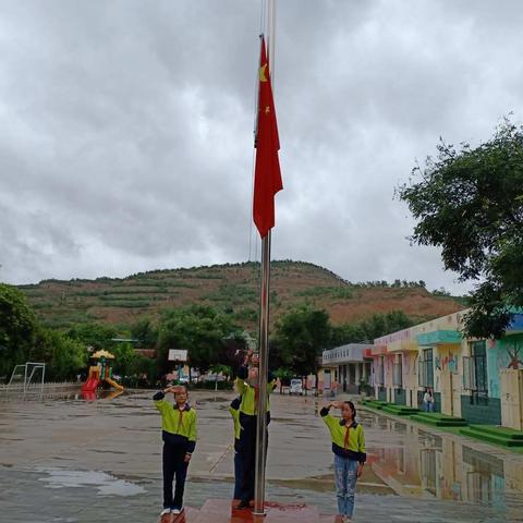
M331 416L327 408L321 409L319 414L330 431L332 452L341 458L365 463L367 454L363 427L356 422L345 425L343 419Z

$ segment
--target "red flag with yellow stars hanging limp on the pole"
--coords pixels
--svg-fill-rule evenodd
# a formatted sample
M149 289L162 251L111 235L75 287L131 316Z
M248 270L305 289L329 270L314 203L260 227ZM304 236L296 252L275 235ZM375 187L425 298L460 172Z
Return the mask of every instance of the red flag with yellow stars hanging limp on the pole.
M256 129L256 168L254 171L253 217L259 235L265 238L275 227L275 195L283 188L278 150L278 124L270 86L269 63L262 37L259 61L258 122Z

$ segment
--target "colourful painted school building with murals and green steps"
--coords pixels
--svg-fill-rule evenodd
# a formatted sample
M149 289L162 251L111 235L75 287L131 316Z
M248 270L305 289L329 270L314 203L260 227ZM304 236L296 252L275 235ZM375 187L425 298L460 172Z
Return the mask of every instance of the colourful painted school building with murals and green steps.
M435 412L523 430L523 314L515 315L502 340L464 338L465 314L374 340L375 396L422 409L430 388Z

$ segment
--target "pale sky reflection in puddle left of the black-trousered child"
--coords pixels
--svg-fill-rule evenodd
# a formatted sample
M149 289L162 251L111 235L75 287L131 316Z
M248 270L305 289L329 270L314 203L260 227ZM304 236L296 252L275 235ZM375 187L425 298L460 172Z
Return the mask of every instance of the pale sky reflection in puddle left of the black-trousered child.
M136 496L144 494L145 488L124 479L119 479L105 472L95 471L65 471L62 469L37 469L46 476L39 481L49 488L93 486L99 496Z

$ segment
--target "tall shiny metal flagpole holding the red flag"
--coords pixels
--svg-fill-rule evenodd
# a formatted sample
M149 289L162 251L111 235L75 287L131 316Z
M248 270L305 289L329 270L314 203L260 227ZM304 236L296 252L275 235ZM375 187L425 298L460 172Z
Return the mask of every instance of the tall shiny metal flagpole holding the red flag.
M268 44L269 72L272 82L272 63L275 50L275 0L268 0ZM262 271L259 302L259 366L258 366L258 401L256 421L256 471L254 514L265 515L265 465L267 462L267 380L269 370L269 283L270 283L270 229L262 240Z

